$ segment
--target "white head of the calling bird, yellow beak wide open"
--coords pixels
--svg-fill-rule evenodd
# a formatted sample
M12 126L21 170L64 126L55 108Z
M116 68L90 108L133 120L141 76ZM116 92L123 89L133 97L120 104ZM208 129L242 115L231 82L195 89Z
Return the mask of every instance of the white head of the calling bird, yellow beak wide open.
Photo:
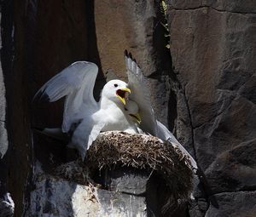
M126 104L125 99L129 94L131 94L131 89L128 89L128 84L120 80L111 80L102 89L103 97L116 103L121 102L123 105Z

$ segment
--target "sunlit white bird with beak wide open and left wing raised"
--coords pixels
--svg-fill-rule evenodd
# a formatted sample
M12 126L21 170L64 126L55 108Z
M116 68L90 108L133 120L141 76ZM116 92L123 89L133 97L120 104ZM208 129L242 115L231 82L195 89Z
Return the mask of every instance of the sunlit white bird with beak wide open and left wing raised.
M79 61L52 77L35 94L35 100L56 101L66 97L61 131L73 132L70 147L85 152L101 131L120 130L138 133L135 123L125 113L125 98L131 90L127 83L112 80L102 89L99 102L93 97L98 67ZM52 129L52 132L58 131ZM60 130L59 130L60 131Z

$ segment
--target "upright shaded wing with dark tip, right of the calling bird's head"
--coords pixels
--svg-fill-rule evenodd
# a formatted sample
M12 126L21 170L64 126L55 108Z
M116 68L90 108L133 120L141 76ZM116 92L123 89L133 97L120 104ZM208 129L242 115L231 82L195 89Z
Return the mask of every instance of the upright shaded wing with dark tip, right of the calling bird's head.
M131 54L125 51L125 66L127 69L128 85L131 89L131 100L137 103L139 114L142 117L140 128L145 133L156 134L156 120L151 106L148 89L145 86L145 78L135 60L132 60Z

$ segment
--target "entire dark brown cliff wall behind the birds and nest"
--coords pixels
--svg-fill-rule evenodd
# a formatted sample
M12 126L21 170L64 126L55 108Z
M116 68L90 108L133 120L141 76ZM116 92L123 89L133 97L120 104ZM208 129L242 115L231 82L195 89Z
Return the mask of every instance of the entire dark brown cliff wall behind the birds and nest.
M0 176L2 191L15 200L15 216L29 201L33 161L41 156L49 162L44 152L52 151L39 146L35 134L32 143L31 129L61 124L62 103L34 105L32 95L73 61L90 60L100 68L97 96L107 72L126 79L125 49L148 77L157 117L206 174L208 184L196 191L187 215L256 212L250 199L256 190L256 3L166 3L170 50L160 24L160 1L1 1L0 156L8 151ZM54 153L65 158L58 156L61 148ZM210 203L213 197L218 205Z

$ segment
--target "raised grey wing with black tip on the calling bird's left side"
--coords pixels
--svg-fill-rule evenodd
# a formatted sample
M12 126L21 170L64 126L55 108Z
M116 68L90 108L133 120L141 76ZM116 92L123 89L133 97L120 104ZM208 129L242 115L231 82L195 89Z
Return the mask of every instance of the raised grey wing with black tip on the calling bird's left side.
M73 123L98 110L93 97L98 67L91 62L74 62L52 77L35 94L34 100L56 101L66 96L62 131L68 132Z

